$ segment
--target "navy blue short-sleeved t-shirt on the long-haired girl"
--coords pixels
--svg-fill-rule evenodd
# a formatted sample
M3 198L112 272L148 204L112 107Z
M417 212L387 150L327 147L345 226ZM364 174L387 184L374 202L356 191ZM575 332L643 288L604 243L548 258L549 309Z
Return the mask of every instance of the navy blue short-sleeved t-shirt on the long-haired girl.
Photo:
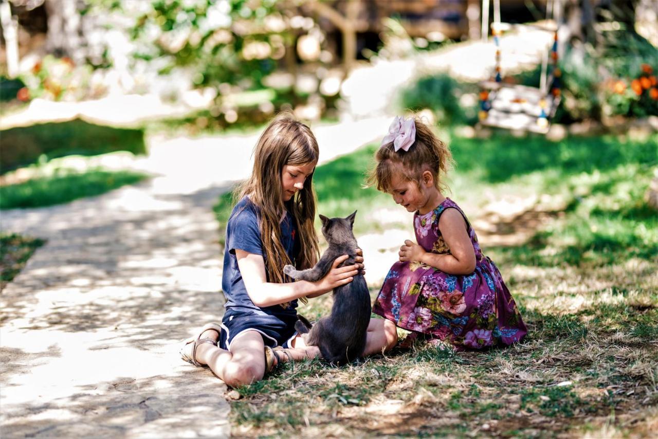
M295 260L295 224L289 212L281 222L281 239L288 257ZM226 297L226 309L256 313L259 315L274 315L284 319L295 317L297 311L297 300L293 300L287 308L281 305L270 307L257 307L249 298L247 288L242 280L236 249L263 255L263 242L261 240L261 227L259 221L259 209L248 197L243 197L233 208L231 216L226 224L226 246L224 247L224 272L222 273L222 290ZM265 261L267 267L267 261ZM268 278L269 281L269 278Z

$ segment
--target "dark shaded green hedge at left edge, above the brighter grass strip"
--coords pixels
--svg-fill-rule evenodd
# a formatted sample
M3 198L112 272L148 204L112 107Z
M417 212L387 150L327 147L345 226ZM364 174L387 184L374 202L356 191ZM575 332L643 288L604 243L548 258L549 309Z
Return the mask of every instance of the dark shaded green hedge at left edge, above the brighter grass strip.
M114 128L70 120L2 130L0 174L34 163L41 155L97 155L111 151L146 152L141 129Z

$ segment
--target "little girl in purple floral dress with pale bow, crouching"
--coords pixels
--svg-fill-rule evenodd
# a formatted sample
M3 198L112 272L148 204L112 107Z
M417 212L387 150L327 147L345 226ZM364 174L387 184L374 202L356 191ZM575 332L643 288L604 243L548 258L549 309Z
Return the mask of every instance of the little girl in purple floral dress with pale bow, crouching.
M513 297L441 178L451 153L420 120L397 117L376 153L370 183L415 212L417 243L406 240L373 312L455 349L508 346L526 335Z

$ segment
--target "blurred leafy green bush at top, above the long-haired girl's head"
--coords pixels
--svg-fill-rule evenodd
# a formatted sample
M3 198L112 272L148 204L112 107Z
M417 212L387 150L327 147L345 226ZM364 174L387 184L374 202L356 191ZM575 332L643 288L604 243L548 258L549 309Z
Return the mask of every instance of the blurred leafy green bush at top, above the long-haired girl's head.
M286 45L293 43L290 28L280 26L284 17L274 0L153 0L151 7L138 18L132 36L145 38L155 30L161 38L147 45L140 57L168 59L163 73L174 66L192 66L195 86L246 79L260 88Z

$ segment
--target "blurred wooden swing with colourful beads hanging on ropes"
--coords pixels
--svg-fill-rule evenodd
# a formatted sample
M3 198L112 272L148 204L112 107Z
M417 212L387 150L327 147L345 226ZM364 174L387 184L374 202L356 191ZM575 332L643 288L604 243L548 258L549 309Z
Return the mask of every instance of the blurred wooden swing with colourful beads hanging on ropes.
M545 134L549 120L555 115L560 103L560 79L562 72L557 66L557 43L560 0L549 0L546 5L546 23L509 24L500 20L500 0L493 0L493 22L491 25L495 44L495 76L493 80L480 82L480 124L510 130L524 130ZM482 0L482 40L488 41L489 0ZM542 59L542 76L539 87L505 84L500 68L500 37L503 30L511 28L533 28L551 32L553 45ZM549 55L550 54L550 55ZM548 57L550 56L550 66ZM550 70L550 72L549 72Z

